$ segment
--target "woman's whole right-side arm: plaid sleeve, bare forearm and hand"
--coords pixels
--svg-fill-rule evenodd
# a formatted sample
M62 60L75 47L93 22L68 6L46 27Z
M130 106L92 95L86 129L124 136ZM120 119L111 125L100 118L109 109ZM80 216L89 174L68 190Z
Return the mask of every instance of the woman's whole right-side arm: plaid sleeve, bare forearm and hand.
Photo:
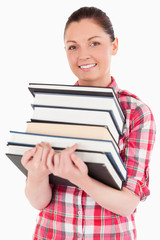
M155 140L155 124L147 106L138 107L132 114L128 133L120 140L121 157L128 170L128 179L122 191L115 190L88 176L87 166L74 154L76 145L54 158L55 175L63 176L83 189L102 207L127 216L137 207L140 200L149 195L148 167Z

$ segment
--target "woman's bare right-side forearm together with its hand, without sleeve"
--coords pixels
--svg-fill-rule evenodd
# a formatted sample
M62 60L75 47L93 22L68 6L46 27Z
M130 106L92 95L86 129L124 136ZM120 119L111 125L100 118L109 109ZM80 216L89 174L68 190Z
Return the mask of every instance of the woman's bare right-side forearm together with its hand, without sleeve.
M74 145L56 154L54 165L53 163L48 165L50 171L59 177L68 179L83 189L99 205L115 214L122 216L131 214L139 203L139 197L126 188L119 191L89 177L86 164L74 154L76 148L77 145Z

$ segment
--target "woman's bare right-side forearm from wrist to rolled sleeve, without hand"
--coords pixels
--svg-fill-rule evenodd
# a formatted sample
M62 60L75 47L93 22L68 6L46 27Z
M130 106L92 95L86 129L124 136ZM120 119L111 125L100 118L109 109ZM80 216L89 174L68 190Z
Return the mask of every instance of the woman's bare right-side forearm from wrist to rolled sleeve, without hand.
M121 216L130 215L139 203L139 197L130 190L126 188L121 191L113 189L89 176L77 185L99 205Z

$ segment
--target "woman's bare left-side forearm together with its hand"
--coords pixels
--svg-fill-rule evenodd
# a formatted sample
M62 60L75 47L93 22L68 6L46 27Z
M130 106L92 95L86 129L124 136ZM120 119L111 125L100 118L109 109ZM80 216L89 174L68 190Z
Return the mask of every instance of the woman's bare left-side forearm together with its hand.
M31 205L38 210L45 208L52 197L49 185L50 171L47 161L52 161L54 150L49 144L38 144L22 157L22 165L28 170L25 194Z

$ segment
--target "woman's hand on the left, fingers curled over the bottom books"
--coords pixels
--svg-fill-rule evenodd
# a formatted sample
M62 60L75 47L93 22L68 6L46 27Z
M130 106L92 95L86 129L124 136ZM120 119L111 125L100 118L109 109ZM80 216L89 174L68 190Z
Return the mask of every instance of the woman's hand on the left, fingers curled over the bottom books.
M49 143L41 142L35 148L24 153L21 163L29 174L38 179L45 178L51 173L47 164L53 160L54 154L55 152Z

